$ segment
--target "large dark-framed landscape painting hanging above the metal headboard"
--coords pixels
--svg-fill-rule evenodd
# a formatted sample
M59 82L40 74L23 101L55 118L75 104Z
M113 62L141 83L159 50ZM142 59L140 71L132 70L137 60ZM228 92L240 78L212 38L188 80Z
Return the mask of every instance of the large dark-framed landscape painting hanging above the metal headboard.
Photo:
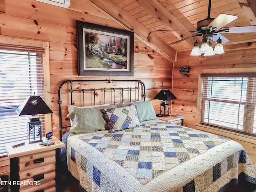
M76 21L78 76L133 76L131 31Z

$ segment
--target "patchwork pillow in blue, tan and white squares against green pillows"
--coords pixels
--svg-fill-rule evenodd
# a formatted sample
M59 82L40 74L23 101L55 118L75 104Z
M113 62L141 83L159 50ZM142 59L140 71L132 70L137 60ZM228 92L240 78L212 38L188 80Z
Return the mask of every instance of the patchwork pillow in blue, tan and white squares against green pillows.
M137 117L137 110L134 105L101 109L107 120L110 131L116 132L127 128L133 128L140 125Z

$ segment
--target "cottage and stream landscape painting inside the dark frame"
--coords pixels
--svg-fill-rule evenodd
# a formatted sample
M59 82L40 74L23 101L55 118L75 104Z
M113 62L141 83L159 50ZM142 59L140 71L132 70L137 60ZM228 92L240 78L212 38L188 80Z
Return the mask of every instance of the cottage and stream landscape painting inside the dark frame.
M127 39L85 32L85 67L127 69Z

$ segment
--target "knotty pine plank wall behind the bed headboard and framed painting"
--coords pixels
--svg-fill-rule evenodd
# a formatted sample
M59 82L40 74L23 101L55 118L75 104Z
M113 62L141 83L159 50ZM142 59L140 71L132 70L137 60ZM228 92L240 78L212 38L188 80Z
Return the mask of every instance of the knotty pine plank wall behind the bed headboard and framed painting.
M0 0L0 35L49 42L50 93L53 134L58 137L58 86L69 79L140 79L151 100L162 88L171 88L172 62L134 37L134 76L78 76L76 20L124 29L84 1L81 10L69 10L34 0ZM160 101L154 105L159 110ZM0 158L0 172L9 170L6 158Z

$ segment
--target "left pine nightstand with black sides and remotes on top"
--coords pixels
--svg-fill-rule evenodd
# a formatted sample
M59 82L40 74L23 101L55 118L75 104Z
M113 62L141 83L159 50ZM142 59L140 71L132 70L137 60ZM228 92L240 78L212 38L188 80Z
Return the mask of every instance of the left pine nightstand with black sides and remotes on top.
M59 191L60 148L65 144L55 136L50 140L42 140L55 144L43 146L39 142L28 144L25 141L25 145L16 148L12 148L15 143L6 145L10 158L11 191Z

